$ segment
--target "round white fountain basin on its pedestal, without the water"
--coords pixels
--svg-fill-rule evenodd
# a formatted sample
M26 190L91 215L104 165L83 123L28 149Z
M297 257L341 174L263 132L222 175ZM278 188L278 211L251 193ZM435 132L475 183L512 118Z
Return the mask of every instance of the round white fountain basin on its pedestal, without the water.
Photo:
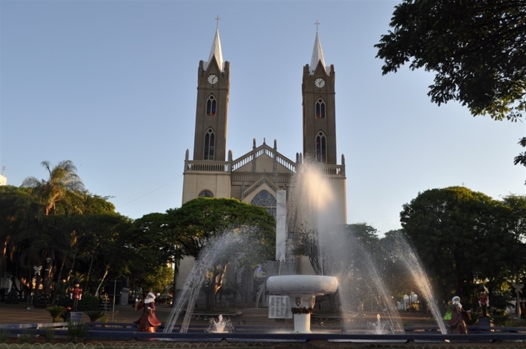
M288 295L294 317L294 333L310 332L310 313L316 296L335 293L338 279L323 275L277 275L267 279L267 291Z

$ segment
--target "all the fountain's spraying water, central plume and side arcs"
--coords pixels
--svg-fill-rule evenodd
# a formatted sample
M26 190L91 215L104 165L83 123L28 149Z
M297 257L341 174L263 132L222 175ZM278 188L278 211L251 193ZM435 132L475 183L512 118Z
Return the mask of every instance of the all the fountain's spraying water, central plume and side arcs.
M345 207L337 205L337 194L333 191L330 178L323 171L325 171L324 167L320 164L306 162L298 166L293 181L294 185L291 186L292 190L287 200L288 228L289 231L296 232L288 241L288 251L295 251L295 247L300 243L304 244L303 247L309 256L315 274L338 277L340 312L351 314L352 302L359 303L359 300L353 299L353 297L356 298L356 294L350 291L351 286L355 286L357 283L367 284L370 288L369 294L376 298L378 306L387 315L387 321L380 321L378 315L375 325L377 327L382 326L384 333L387 327L389 327L388 331L392 333L404 333L393 299L389 296L375 264L358 238L342 229L345 221L342 221L341 217L344 216L342 210ZM185 306L186 314L179 332L188 331L191 314L194 311L206 272L232 246L242 243L242 235L228 233L207 243L199 256L199 260L196 261L193 270L190 272L183 290L177 297L164 332L173 331ZM411 251L407 242L403 242L403 244L404 247L401 248L398 256L411 272L415 282L418 283L421 294L428 301L440 331L445 334L447 330L443 322L440 321L440 312L431 292L428 278L423 272L416 254ZM295 253L289 253L287 261L294 261L294 256ZM359 272L359 275L355 272ZM211 323L214 325L214 329L211 331L225 331L225 327L218 330L218 326L221 327L224 324L225 321L221 319L217 322L214 321Z

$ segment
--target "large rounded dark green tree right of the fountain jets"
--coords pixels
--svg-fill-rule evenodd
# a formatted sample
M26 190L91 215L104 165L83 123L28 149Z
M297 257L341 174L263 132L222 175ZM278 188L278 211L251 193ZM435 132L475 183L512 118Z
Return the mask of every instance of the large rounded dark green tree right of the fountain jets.
M518 267L516 253L524 247L510 229L517 227L515 218L503 202L466 187L419 193L400 213L403 233L442 300L453 293L469 300L478 280L487 281L491 291L510 279Z

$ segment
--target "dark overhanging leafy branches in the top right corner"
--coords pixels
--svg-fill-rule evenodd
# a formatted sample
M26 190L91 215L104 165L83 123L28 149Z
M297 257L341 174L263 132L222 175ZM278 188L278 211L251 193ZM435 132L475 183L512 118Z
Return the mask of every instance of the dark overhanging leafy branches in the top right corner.
M389 25L375 45L384 75L410 62L436 74L433 103L458 101L496 120L526 113L526 2L404 0ZM514 164L526 166L526 152Z

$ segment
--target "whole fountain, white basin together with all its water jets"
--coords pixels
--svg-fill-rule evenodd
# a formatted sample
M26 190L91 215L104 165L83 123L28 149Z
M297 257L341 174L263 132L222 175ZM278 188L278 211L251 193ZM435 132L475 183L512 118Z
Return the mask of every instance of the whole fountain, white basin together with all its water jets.
M281 253L284 258L278 260L277 257L277 262L273 262L279 265L278 268L275 268L278 270L278 273L270 274L265 284L267 294L288 297L290 307L287 317L290 318L290 313L292 313L292 318L294 318L294 330L290 333L311 333L312 309L315 305L316 296L322 295L339 297L336 298L340 304L339 316L351 319L349 323L344 322L342 329L344 332L359 331L362 327L352 327L351 322L356 324L365 320L365 318L357 316L355 306L359 300L353 298L356 297L356 292L350 290L355 290L352 287L355 287L357 283L365 282L368 285L369 294L376 300L378 308L384 312L383 316L386 320L380 322L380 315L378 315L376 322L377 326L385 326L381 333L403 334L404 329L393 298L383 284L376 266L359 239L342 230L344 222L341 221L341 210L335 207L337 205L336 195L332 191L328 178L323 175L323 167L319 164L308 162L300 164L291 188L286 206L287 216L285 224L287 224L287 229L290 231L302 232L301 238L303 240L301 243L306 244L304 245L304 251L310 253L311 275L294 273L281 265L281 263L289 263L289 265L301 263L300 261L294 261L295 248L301 239L298 237L298 234L292 234L292 237L289 236L286 241L279 241L280 238L276 239L277 248L279 245L279 248L285 250ZM278 193L278 198L279 195ZM278 200L278 216L279 205ZM279 222L280 218L278 217L278 225ZM186 313L179 332L187 332L206 271L216 263L218 256L224 255L229 250L229 246L240 243L243 243L242 234L229 233L224 234L224 236L219 237L215 241L210 241L205 246L199 260L194 265L193 271L188 276L183 290L179 292L175 306L166 322L165 333L173 331L175 323L180 314L183 313L185 306ZM410 251L408 245L405 246L404 251ZM351 262L349 256L353 254L358 255L358 257ZM278 256L278 253L276 255ZM424 280L420 284L422 287L426 286L425 281L427 281L427 278L424 277L425 274L421 266L414 259L416 255L399 254L399 256L403 260L409 261L407 267L411 270L413 278L417 281ZM352 263L358 263L359 265L350 265ZM412 269L416 266L419 266L419 270L413 272ZM282 270L287 271L281 273ZM360 270L361 276L357 278L357 275L353 274L353 270ZM440 325L443 327L443 322L440 321L440 312L436 307L436 301L432 298L430 287L428 286L421 294L427 297L433 309L433 316L437 319L439 327ZM338 314L335 316L338 316ZM214 325L215 330L210 330L209 332L224 331L217 330L216 326L222 324L222 322L220 320L211 324ZM442 327L440 327L440 331L447 333ZM385 331L386 328L389 330ZM362 331L370 333L363 328ZM375 334L380 333L376 331Z

